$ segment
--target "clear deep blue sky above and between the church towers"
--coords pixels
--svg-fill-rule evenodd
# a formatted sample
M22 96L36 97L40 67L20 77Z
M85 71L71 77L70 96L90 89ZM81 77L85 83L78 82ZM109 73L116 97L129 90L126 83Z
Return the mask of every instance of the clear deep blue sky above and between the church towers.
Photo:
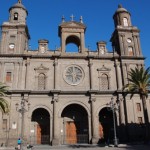
M8 9L17 0L0 0L0 24L8 21ZM147 57L146 67L150 66L150 1L149 0L22 0L28 10L27 24L31 35L31 49L37 49L39 39L49 40L49 49L60 46L58 26L62 15L66 21L75 16L87 26L85 46L96 50L96 42L104 40L107 49L112 51L109 42L114 31L113 14L122 4L131 13L132 25L140 29L143 55Z

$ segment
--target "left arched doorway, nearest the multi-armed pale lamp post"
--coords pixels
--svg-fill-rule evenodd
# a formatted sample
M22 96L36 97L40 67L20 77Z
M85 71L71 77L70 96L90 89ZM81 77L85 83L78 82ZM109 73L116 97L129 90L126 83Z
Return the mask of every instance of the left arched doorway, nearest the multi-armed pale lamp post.
M50 115L44 108L38 108L32 113L32 122L35 122L35 142L36 144L50 143Z

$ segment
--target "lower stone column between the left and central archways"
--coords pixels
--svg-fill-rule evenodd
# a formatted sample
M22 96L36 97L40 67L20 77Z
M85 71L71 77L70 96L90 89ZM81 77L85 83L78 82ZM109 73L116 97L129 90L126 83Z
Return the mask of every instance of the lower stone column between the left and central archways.
M59 145L59 118L58 118L58 94L54 94L53 97L53 140L52 145Z

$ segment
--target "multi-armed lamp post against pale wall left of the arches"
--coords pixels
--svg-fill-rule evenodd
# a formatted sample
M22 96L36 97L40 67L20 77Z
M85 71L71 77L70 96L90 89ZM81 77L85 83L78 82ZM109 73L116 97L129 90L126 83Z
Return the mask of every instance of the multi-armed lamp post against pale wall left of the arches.
M27 109L26 107L26 103L27 103ZM23 139L24 136L24 114L25 112L29 111L30 108L30 103L28 102L27 99L24 98L24 94L21 94L21 102L20 102L20 106L18 103L16 103L16 111L19 112L21 114L21 131L20 131L20 138Z

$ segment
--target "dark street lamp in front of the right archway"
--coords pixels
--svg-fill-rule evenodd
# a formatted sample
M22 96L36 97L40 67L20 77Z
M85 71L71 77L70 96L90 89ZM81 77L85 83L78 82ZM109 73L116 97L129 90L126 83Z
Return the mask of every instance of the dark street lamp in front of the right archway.
M118 139L117 139L117 135L116 135L116 120L115 120L115 111L117 110L117 107L116 107L116 103L114 103L113 100L114 100L114 98L112 97L110 103L108 103L107 105L108 105L109 109L112 110L112 113L113 113L114 146L118 147Z

